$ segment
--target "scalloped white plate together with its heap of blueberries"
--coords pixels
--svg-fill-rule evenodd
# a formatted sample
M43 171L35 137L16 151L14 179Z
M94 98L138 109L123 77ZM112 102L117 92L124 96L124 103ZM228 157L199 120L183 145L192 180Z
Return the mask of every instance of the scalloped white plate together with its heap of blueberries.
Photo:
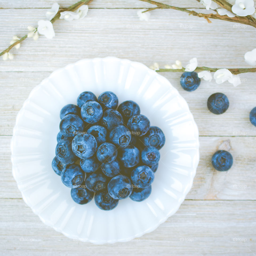
M84 59L31 91L11 152L22 197L46 225L75 241L127 242L185 199L198 128L155 71L127 59Z

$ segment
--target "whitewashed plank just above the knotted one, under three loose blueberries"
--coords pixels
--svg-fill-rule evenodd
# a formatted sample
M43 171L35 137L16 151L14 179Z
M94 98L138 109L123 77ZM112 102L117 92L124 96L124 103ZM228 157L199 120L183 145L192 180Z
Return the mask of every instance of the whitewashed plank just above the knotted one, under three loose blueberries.
M35 59L34 65L40 61ZM0 135L11 135L15 118L30 91L50 72L0 72ZM256 127L250 123L249 113L256 106L254 84L256 74L246 74L247 81L238 87L228 82L217 85L214 81L202 81L196 91L184 91L179 83L181 73L162 73L187 101L200 135L255 136ZM107 88L106 88L107 90ZM216 92L227 95L229 109L222 115L214 115L207 109L208 97Z

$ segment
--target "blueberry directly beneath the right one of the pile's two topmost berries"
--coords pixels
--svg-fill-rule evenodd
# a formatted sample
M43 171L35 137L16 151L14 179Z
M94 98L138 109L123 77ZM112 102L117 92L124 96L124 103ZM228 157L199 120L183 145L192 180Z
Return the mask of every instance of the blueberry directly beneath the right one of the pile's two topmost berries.
M118 125L123 125L123 117L117 110L108 109L103 113L101 123L110 131Z

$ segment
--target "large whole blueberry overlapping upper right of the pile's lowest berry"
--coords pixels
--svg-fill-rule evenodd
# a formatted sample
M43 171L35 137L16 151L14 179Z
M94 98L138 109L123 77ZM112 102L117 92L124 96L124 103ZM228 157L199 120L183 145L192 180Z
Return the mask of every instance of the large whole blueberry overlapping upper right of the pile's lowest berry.
M107 191L114 199L125 199L130 196L133 190L131 180L124 175L117 175L107 185Z

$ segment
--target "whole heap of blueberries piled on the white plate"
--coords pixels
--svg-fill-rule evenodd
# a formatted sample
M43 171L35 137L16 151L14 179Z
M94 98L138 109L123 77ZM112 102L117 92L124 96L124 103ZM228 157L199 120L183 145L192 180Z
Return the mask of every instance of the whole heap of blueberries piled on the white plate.
M100 209L111 210L121 199L140 202L149 197L165 135L150 126L137 103L118 106L111 91L98 99L85 91L77 106L61 109L60 118L52 167L76 203L94 197Z

